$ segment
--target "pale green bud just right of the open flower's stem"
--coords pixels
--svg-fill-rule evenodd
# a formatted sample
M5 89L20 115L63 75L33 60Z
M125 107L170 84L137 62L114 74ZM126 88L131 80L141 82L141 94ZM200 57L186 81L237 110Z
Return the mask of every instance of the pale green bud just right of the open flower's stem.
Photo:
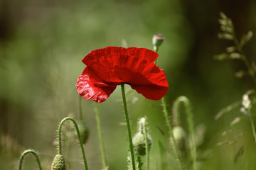
M152 140L150 135L147 135L149 150L151 149ZM137 134L133 137L132 142L134 144L135 149L139 155L146 154L146 140L144 134L142 132L137 132Z

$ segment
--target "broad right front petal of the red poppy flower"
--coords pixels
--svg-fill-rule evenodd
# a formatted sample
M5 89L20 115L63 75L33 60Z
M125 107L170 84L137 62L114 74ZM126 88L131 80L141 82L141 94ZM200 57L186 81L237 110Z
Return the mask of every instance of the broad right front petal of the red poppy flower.
M169 87L166 74L156 64L138 57L117 57L119 64L115 65L114 71L122 82L151 100L159 100L166 94Z

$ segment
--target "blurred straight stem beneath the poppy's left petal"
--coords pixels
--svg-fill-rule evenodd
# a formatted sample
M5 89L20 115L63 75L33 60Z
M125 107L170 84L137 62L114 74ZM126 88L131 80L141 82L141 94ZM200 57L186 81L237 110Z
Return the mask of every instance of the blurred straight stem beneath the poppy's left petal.
M98 130L98 136L100 140L100 151L102 155L102 165L103 169L107 169L107 159L106 159L106 154L105 154L105 147L104 147L104 142L103 142L103 137L102 137L102 125L100 123L100 111L99 111L99 106L97 103L95 103L95 113L96 113L96 120L97 120L97 130Z

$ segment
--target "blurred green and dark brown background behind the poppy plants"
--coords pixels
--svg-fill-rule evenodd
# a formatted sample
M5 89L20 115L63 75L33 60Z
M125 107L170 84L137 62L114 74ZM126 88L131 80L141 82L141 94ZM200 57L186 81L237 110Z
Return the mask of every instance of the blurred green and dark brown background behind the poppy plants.
M219 12L233 19L240 37L248 30L256 33L255 9L254 0L1 0L0 169L18 169L18 157L28 148L36 149L43 169L49 169L57 153L58 123L68 115L79 118L75 83L85 67L82 58L97 48L122 46L124 40L128 47L152 49L151 38L156 33L165 37L158 64L169 81L166 101L170 113L173 101L184 95L193 105L195 124L206 125L203 144L198 147L201 169L255 169L250 120L240 108L214 120L221 108L239 101L254 84L250 77L235 78L235 72L245 69L242 62L213 60L213 55L233 45L217 38ZM250 60L256 56L255 45L252 37L245 46ZM121 97L118 87L100 103L107 162L113 170L127 168L127 129ZM134 98L139 100L134 103ZM144 115L148 118L153 138L151 169L160 169L161 162L167 165L166 170L176 169L161 103L148 101L135 91L127 99L134 134L137 120ZM89 168L101 169L94 102L83 100L82 109L90 128L85 145ZM237 116L241 116L240 123L230 126ZM186 115L181 119L188 131ZM72 127L65 125L64 155L69 169L82 169ZM228 135L221 135L225 131ZM236 137L240 133L242 137ZM216 146L226 140L235 142ZM166 148L166 158L160 157L159 141ZM244 152L235 162L241 147ZM33 157L26 157L23 168L37 169L33 161Z

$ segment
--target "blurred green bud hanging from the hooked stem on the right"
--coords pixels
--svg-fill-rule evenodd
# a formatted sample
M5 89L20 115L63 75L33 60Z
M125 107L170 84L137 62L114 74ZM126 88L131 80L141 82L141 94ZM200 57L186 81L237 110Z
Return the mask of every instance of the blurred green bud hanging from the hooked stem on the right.
M176 126L173 129L174 132L174 139L176 141L176 145L179 149L183 149L185 147L186 142L186 132L181 128L181 126ZM171 140L171 144L173 144Z

